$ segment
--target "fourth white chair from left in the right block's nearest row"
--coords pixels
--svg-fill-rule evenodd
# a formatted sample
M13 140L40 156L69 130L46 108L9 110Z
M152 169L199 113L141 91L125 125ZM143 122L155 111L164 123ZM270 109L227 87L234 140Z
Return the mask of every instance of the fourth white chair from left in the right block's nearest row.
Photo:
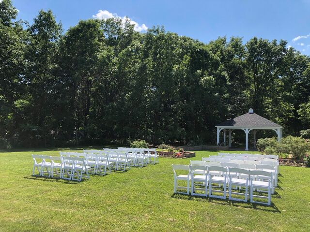
M229 173L229 187L228 187L228 199L229 200L234 200L234 201L242 201L242 202L247 202L248 201L248 176L249 176L249 171L241 168L228 168L228 173ZM246 178L238 178L243 174L244 176L247 176ZM235 186L236 188L239 187L239 190L241 188L245 188L246 192L241 193L241 192L233 192L232 187ZM241 195L245 196L245 199L239 199L239 198L233 198L232 193L235 195Z

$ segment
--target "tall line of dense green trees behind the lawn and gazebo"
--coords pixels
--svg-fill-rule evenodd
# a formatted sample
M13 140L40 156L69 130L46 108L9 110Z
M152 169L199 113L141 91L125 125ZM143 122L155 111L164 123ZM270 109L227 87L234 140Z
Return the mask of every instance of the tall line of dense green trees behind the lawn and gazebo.
M287 42L202 43L163 27L89 19L63 32L0 2L0 146L145 139L215 143L215 125L255 113L298 135L310 128L310 58Z

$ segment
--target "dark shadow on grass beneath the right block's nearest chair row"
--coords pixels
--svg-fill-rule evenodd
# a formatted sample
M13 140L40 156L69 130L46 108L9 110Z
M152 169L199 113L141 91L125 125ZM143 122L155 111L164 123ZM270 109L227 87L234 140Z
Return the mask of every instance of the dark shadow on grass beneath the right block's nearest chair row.
M186 201L210 202L210 203L216 203L216 204L227 205L227 206L241 207L241 208L246 208L246 209L262 210L262 211L267 211L271 213L281 213L281 211L279 211L279 208L274 203L271 203L271 205L269 206L269 205L264 205L264 204L259 204L259 203L230 201L228 200L228 198L218 199L218 198L209 198L209 197L204 197L204 196L192 196L192 195L186 195L186 194L181 194L181 193L173 193L171 195L171 198L186 200Z

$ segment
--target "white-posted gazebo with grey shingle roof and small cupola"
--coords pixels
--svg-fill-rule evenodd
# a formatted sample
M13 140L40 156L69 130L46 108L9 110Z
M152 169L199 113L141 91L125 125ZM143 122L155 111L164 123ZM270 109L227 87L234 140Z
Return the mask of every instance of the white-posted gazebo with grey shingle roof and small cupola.
M254 114L254 110L250 108L247 114L228 119L225 122L216 125L217 128L217 145L220 144L219 133L223 131L223 143L226 145L226 131L229 133L229 146L232 146L233 130L242 130L246 133L246 151L248 151L248 134L253 132L254 148L256 147L256 132L259 130L273 130L278 135L278 141L282 138L283 127L262 116Z

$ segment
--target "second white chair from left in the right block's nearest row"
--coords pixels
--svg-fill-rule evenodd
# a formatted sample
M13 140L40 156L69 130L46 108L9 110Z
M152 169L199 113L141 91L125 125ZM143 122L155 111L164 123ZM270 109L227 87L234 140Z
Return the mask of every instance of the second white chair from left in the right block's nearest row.
M208 168L203 165L190 165L190 174L191 174L191 195L193 196L208 196L208 180L209 180L209 175L208 175ZM196 170L202 170L202 174L195 174ZM202 183L204 188L196 188L195 187L195 182ZM204 191L204 194L201 193L196 193L196 191Z

